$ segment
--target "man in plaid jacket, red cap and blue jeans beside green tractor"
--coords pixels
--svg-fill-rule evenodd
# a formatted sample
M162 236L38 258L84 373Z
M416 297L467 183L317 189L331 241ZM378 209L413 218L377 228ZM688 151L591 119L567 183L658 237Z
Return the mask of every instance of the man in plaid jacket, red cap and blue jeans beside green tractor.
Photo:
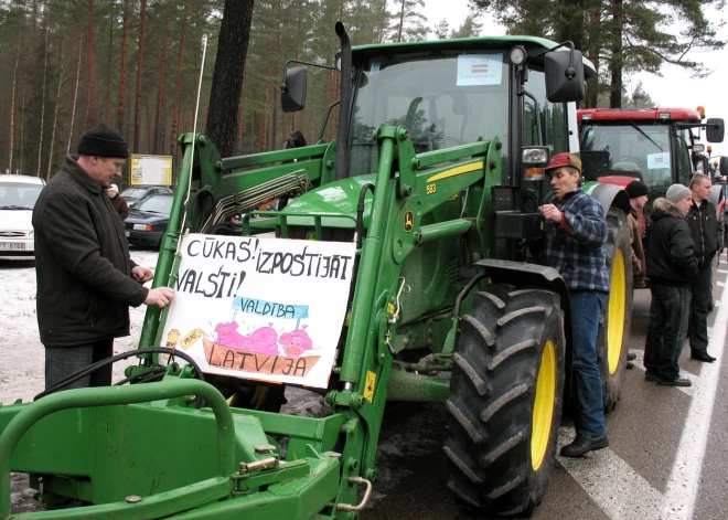
M546 221L540 262L554 267L569 288L572 310L572 371L576 438L561 448L581 457L609 446L601 376L597 364L599 314L609 295L607 221L601 204L579 188L581 160L557 153L546 167L554 202L539 208Z

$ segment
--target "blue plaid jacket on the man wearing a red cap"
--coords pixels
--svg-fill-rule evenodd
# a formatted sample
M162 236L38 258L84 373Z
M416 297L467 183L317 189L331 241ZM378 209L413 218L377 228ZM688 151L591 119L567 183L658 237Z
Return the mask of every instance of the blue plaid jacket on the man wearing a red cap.
M546 222L542 264L554 267L571 290L609 293L604 251L609 229L601 204L581 189L554 204L564 219L560 224Z

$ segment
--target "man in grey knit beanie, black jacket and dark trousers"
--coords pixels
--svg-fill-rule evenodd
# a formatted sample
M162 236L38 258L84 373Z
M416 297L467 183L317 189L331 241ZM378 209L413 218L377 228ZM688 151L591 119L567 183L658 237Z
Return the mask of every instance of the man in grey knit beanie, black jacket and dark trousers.
M683 184L671 185L665 198L654 202L647 231L652 303L644 344L644 379L671 386L690 386L690 380L679 376L677 361L687 333L690 286L698 275L685 220L692 204L690 190Z

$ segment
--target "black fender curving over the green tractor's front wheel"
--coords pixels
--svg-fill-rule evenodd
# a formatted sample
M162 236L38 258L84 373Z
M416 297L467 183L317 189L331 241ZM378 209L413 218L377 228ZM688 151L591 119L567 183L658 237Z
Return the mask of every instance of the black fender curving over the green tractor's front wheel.
M627 197L627 193L624 193ZM629 204L629 198L628 198ZM477 266L483 268L491 283L510 284L517 288L539 287L552 290L559 296L560 307L564 311L564 337L566 339L566 381L568 382L571 373L571 298L569 288L561 275L553 267L546 267L537 264L527 264L525 262L511 262L494 258L485 258L475 262ZM569 384L567 383L567 388ZM565 391L565 395L568 395Z

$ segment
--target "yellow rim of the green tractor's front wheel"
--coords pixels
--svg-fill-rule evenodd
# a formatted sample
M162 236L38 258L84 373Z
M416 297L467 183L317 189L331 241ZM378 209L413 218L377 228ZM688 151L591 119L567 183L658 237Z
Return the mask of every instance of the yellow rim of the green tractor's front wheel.
M548 439L554 421L554 403L556 402L556 348L550 339L546 341L540 357L540 368L536 380L536 399L534 400L534 418L531 433L531 465L534 471L540 468L548 449Z

